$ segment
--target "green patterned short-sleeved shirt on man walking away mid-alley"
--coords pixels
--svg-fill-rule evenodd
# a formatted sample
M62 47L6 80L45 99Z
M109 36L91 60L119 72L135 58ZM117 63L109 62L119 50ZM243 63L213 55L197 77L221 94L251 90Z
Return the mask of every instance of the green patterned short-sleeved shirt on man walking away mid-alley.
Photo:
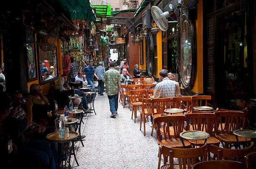
M118 70L111 67L110 70L105 72L103 81L106 83L107 94L115 95L119 92L119 82L122 81L121 75Z

